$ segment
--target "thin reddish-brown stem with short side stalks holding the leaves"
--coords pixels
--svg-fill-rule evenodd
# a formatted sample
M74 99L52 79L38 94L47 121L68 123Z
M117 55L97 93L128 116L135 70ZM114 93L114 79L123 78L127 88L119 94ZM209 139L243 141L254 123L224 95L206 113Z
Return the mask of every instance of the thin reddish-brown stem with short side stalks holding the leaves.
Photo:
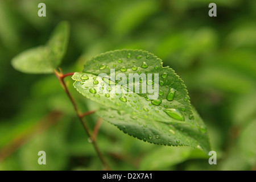
M105 168L106 170L110 170L108 164L106 163L106 160L105 160L104 156L101 154L101 151L100 151L100 149L99 149L98 146L97 146L96 140L94 140L94 138L93 138L92 135L90 134L89 127L88 127L88 125L86 124L86 122L84 121L84 118L83 118L83 117L85 116L86 113L85 113L85 114L80 114L79 109L78 109L78 107L77 107L77 104L76 104L74 98L71 96L71 93L69 92L69 90L68 90L68 88L67 88L67 85L66 85L65 82L64 82L64 78L65 78L66 76L71 76L71 75L73 75L73 73L67 73L67 74L63 75L63 73L61 72L61 70L60 70L60 72L57 72L57 71L55 70L55 75L56 75L56 77L58 78L58 80L60 81L60 84L61 84L61 86L63 87L65 93L67 94L69 100L71 100L72 105L73 105L73 107L74 107L74 109L75 109L76 115L77 115L77 117L79 118L79 121L82 123L82 126L84 127L84 130L85 130L86 134L88 135L89 139L92 141L93 147L94 147L94 149L96 150L97 155L98 155L98 157L99 157L100 160L101 160L101 163L103 164L103 166L104 166L104 168ZM87 112L86 115L88 115L88 113L89 113L89 114L92 114L92 113L94 113L94 112L95 112L95 111L89 111L89 112Z

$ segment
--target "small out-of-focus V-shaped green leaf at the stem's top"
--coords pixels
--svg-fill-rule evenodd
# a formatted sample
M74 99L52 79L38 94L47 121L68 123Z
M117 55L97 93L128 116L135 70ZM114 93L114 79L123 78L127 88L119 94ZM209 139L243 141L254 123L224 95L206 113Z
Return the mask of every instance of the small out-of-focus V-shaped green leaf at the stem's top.
M11 64L23 73L52 73L65 55L69 38L69 24L61 22L53 31L46 46L28 49L15 56Z

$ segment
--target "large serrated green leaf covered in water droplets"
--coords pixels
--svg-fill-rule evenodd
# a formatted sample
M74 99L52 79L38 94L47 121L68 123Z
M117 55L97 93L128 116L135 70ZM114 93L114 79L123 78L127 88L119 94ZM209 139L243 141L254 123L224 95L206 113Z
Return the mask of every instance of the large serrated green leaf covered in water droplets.
M145 73L147 86L152 81L155 87L159 86L158 98L149 100L148 90L135 93L132 88L129 93L104 93L106 83L112 90L120 86L110 68L115 69L115 75L124 73L127 78L129 73ZM100 73L111 76L112 81L98 77ZM147 73L159 74L159 84L156 75L150 79ZM155 144L191 146L208 154L207 129L191 106L183 81L171 68L163 68L162 60L153 54L127 49L106 52L87 61L84 71L72 78L78 92L104 106L97 114L124 133ZM121 85L121 89L127 90L126 86Z

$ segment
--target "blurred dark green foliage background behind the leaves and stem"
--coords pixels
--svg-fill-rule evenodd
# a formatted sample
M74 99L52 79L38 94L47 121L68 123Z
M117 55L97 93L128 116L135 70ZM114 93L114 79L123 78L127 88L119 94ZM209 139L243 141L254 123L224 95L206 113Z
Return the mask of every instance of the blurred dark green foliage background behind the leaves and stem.
M38 16L46 3L47 16ZM217 5L217 17L208 5ZM54 75L11 67L25 49L47 42L61 20L71 23L64 73L113 49L144 49L187 85L209 131L217 165L191 147L145 143L102 122L98 145L117 170L256 169L256 1L0 1L0 170L101 170L102 165ZM81 110L98 105L67 84ZM86 117L93 129L95 114ZM38 164L46 151L47 165Z

